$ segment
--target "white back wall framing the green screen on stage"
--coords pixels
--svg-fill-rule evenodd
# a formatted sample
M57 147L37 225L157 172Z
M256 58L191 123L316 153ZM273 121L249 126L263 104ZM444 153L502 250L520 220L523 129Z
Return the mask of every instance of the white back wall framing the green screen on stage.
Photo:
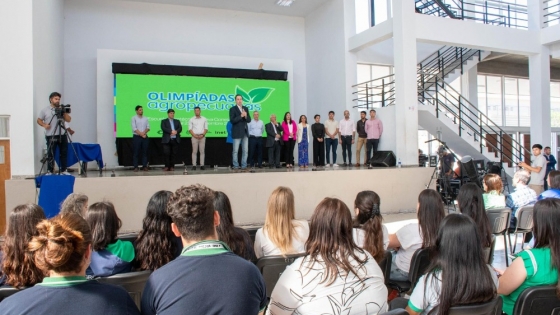
M166 53L212 55L214 60L243 57L254 63L229 66L255 69L265 59L288 60L294 69L293 112L307 113L303 18L112 0L66 0L64 15L64 101L73 105L75 141L98 141L99 49L159 52L162 62ZM185 57L180 64L208 65ZM275 70L270 67L264 62L265 69ZM104 159L114 159L113 152L105 150Z

